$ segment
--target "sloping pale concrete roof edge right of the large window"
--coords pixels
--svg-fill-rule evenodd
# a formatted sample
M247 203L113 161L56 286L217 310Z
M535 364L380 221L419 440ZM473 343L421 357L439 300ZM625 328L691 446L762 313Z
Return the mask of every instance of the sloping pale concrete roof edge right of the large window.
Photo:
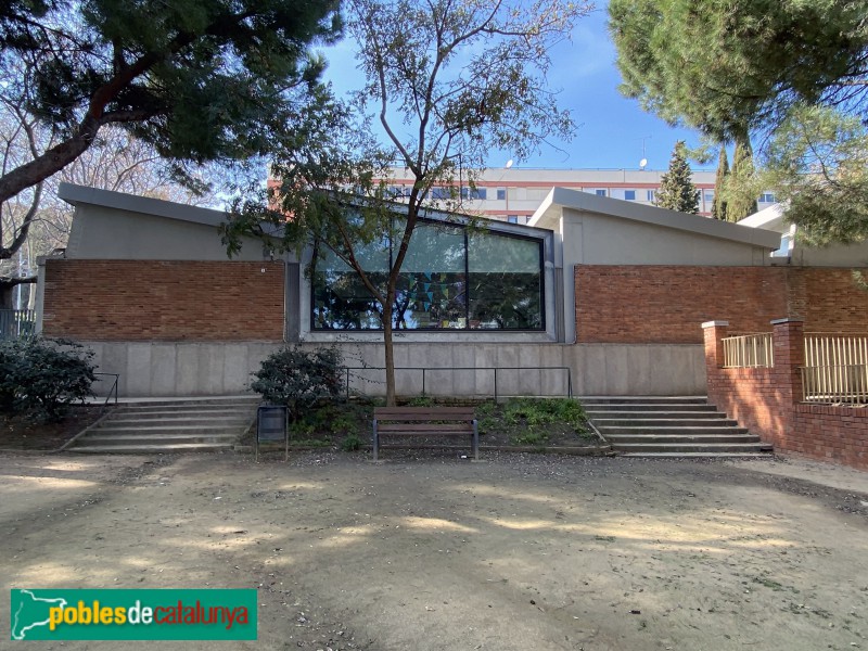
M687 215L621 199L598 196L589 192L566 188L553 188L548 196L542 200L528 225L559 230L558 222L564 208L674 228L709 238L719 238L761 246L770 251L775 251L780 246L780 233L775 231L750 228L729 221L719 221L700 215Z

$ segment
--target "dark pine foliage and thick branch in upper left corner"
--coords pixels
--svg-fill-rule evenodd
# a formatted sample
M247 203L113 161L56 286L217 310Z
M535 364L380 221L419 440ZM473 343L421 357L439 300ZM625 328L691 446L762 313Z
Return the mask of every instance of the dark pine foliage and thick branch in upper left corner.
M175 161L241 159L310 108L337 1L42 0L0 11L4 91L55 137L0 177L0 202L118 125Z

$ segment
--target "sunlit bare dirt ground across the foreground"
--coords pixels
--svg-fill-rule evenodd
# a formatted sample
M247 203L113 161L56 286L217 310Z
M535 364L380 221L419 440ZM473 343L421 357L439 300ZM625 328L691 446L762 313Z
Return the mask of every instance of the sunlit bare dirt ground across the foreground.
M12 587L256 587L258 641L220 649L868 649L868 473L486 457L3 455L0 616Z

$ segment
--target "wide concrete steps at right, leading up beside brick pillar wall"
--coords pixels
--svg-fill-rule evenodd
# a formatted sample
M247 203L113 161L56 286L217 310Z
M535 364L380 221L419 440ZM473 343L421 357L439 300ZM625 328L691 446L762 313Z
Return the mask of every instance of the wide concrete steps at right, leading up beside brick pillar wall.
M591 423L623 456L761 456L771 446L702 396L579 398Z

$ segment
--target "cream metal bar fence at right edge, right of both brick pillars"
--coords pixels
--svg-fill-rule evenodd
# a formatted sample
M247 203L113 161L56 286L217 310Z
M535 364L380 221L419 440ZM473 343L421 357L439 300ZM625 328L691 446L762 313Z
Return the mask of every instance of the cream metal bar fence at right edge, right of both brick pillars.
M805 335L806 403L868 403L868 336Z

